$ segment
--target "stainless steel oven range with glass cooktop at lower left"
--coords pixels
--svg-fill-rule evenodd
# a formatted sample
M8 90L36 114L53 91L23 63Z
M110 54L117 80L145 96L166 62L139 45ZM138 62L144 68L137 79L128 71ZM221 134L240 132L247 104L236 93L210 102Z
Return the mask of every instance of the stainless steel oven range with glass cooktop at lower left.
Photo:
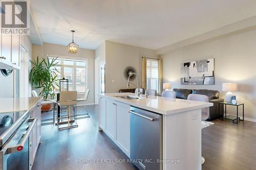
M25 111L1 113L0 120L0 170L28 170L29 138L37 119Z

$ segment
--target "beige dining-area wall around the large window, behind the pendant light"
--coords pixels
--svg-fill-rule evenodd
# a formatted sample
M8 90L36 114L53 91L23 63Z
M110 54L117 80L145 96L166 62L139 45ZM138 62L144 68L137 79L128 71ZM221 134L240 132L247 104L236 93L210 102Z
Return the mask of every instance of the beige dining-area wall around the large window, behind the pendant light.
M40 51L40 48L38 47ZM56 55L63 57L74 57L88 59L88 88L90 89L89 98L86 104L94 104L94 57L95 51L84 48L79 48L77 54L69 54L68 47L65 45L57 45L44 43L43 45L44 57L47 55ZM40 54L39 52L34 52Z

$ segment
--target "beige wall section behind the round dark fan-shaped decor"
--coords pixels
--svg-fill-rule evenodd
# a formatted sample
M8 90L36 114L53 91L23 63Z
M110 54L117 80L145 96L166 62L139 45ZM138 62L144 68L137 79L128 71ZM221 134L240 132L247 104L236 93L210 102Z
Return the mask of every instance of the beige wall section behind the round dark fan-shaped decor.
M127 88L127 80L123 77L123 70L126 66L133 66L141 79L142 56L159 57L155 54L155 50L105 41L106 92L118 92L121 88ZM135 79L133 83L137 84L137 81ZM132 88L133 86L131 85L130 87Z

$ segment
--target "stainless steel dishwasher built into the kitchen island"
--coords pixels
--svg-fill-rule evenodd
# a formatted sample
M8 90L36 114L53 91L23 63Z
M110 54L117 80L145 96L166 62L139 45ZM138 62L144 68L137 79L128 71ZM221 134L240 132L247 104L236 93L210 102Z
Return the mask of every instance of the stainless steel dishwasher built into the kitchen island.
M162 169L162 115L130 107L130 157L141 170Z

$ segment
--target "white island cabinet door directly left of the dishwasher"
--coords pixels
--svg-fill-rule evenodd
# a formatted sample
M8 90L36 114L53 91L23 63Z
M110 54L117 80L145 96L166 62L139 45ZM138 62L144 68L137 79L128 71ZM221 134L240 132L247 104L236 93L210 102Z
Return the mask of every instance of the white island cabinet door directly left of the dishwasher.
M116 104L116 144L130 157L130 105Z

